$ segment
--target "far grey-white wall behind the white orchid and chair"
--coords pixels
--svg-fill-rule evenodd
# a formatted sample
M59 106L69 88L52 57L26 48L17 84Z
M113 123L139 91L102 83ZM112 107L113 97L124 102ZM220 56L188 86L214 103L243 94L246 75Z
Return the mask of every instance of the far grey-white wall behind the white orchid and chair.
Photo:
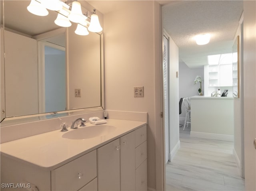
M194 80L197 75L202 77L202 89L204 92L204 67L201 68L189 68L186 63L180 61L179 63L179 97L191 97L198 95L198 89L200 83L194 84ZM182 103L182 113L180 114L180 120L185 120L186 111L184 104Z

